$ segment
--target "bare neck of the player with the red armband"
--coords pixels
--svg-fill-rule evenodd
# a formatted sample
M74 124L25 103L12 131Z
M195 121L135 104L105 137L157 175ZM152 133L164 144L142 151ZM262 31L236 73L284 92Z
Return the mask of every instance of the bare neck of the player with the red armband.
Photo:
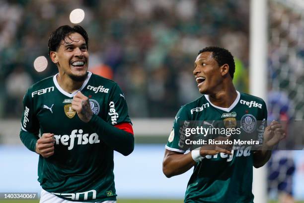
M84 81L74 81L67 74L59 72L57 75L57 82L64 91L73 93L81 88Z

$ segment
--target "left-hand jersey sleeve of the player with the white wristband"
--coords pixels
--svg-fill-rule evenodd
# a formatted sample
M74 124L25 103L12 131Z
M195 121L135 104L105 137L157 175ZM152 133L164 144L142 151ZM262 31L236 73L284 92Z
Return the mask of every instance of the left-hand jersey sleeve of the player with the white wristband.
M185 142L185 129L189 126L189 118L186 107L182 106L173 121L173 128L165 146L167 150L185 153L189 149Z

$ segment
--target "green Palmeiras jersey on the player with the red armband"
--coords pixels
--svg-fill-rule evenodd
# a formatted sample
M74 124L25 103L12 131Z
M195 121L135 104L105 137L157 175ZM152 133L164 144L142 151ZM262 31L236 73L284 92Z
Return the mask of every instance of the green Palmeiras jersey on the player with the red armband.
M65 92L54 77L31 86L23 99L21 131L54 133L55 153L39 156L42 188L70 201L116 200L113 149L107 146L71 107L76 92ZM79 89L89 98L92 112L111 125L130 122L119 86L88 72ZM37 137L38 138L38 137Z

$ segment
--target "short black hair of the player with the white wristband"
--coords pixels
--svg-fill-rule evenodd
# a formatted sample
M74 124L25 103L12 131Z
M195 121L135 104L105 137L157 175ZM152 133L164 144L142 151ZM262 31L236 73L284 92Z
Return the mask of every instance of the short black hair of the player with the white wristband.
M219 66L223 66L224 64L228 64L229 66L229 75L233 79L234 71L235 71L235 64L232 54L224 48L210 46L206 47L199 51L199 54L203 52L212 52L212 57L218 62Z

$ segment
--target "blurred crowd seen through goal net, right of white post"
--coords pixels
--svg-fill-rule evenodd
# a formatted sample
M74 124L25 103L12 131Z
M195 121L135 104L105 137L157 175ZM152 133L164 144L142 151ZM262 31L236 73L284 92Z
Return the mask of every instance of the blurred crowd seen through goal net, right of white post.
M282 3L279 3L281 2ZM294 120L304 119L303 1L271 0L269 12L269 87L293 102ZM298 4L300 3L300 4ZM277 112L279 113L279 112Z

